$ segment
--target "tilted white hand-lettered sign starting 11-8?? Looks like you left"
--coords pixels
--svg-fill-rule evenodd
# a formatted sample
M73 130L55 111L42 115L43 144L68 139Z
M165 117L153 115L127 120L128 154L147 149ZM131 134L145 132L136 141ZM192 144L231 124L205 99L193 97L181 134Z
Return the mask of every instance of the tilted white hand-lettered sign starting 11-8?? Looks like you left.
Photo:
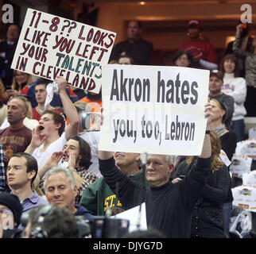
M28 9L12 68L99 93L116 33Z

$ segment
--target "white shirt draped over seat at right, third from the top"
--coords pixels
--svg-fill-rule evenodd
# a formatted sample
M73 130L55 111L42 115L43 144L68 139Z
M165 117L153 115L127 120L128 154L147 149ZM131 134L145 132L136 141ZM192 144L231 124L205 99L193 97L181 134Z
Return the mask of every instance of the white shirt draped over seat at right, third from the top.
M231 160L230 171L233 176L242 178L242 175L250 171L252 159L247 156L233 155Z

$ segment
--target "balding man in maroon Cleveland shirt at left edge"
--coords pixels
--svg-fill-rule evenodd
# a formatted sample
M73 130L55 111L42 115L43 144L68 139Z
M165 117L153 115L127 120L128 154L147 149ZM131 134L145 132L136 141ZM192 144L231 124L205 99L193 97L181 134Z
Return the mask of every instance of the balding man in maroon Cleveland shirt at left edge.
M16 96L7 103L7 120L10 126L0 130L0 144L4 147L4 160L16 152L24 152L31 141L31 129L23 121L28 114L27 100Z

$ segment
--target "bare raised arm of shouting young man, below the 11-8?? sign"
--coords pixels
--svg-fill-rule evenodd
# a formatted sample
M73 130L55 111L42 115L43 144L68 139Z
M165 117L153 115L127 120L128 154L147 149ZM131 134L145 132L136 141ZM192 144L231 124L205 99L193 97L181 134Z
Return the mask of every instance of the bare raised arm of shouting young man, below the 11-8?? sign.
M68 140L72 135L78 134L79 118L76 107L66 92L67 81L64 78L57 76L56 83L59 87L59 94L63 104L64 113L69 119L69 125L65 129L65 137Z

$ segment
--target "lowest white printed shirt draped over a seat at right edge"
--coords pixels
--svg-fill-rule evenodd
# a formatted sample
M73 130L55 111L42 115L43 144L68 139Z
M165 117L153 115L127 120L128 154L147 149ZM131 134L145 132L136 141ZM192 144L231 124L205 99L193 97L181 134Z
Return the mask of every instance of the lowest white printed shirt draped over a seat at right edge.
M232 189L233 206L240 206L252 212L256 211L256 188L249 185L241 185Z

